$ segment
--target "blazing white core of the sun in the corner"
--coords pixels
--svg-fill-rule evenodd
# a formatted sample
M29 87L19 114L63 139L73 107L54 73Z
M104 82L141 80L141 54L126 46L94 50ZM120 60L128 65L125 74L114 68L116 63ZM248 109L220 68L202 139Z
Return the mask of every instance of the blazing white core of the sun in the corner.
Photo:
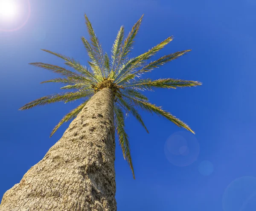
M12 0L0 0L0 18L12 19L17 14L17 5Z

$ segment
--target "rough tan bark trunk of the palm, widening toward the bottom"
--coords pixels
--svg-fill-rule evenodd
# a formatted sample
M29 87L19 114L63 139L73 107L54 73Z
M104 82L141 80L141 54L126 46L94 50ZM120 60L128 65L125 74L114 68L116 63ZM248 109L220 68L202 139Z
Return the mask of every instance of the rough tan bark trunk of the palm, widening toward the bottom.
M113 93L97 92L0 211L116 211Z

